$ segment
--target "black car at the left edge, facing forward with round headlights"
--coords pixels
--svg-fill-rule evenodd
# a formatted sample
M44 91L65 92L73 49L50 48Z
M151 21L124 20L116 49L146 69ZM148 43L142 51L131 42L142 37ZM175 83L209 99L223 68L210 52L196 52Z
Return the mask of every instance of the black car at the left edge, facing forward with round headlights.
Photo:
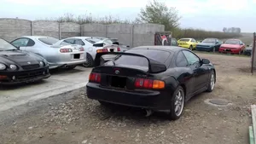
M0 38L0 85L34 82L49 76L44 58L20 51Z

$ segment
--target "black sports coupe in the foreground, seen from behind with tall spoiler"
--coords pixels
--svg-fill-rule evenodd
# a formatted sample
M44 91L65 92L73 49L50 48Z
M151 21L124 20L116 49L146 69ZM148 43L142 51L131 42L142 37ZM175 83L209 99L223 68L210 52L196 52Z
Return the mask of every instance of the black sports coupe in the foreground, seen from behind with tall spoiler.
M214 66L189 49L142 46L111 54L117 57L102 66L100 57L104 54L96 55L96 67L86 85L87 96L103 105L167 112L175 120L181 116L185 101L214 89Z

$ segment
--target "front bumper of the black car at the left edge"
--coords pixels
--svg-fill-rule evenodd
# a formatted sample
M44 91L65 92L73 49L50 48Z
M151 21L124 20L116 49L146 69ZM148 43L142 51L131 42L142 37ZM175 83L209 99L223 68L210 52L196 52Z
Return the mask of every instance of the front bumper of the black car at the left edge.
M37 70L17 71L17 72L0 72L0 76L7 78L0 79L0 85L13 85L35 82L44 78L49 78L49 68L44 67Z

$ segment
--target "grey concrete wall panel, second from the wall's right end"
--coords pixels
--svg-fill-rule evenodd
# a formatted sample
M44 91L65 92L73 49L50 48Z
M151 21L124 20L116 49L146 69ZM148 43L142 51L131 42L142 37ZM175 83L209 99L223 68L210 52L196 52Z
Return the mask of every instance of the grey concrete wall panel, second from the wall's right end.
M107 26L107 37L118 38L119 42L125 45L132 45L131 24L111 24Z

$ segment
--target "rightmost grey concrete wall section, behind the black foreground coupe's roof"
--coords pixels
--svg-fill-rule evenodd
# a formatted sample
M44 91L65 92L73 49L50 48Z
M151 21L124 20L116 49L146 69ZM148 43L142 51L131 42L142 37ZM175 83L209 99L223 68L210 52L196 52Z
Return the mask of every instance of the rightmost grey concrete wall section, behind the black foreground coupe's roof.
M164 32L165 26L157 24L136 24L133 26L133 47L154 45L155 32Z

